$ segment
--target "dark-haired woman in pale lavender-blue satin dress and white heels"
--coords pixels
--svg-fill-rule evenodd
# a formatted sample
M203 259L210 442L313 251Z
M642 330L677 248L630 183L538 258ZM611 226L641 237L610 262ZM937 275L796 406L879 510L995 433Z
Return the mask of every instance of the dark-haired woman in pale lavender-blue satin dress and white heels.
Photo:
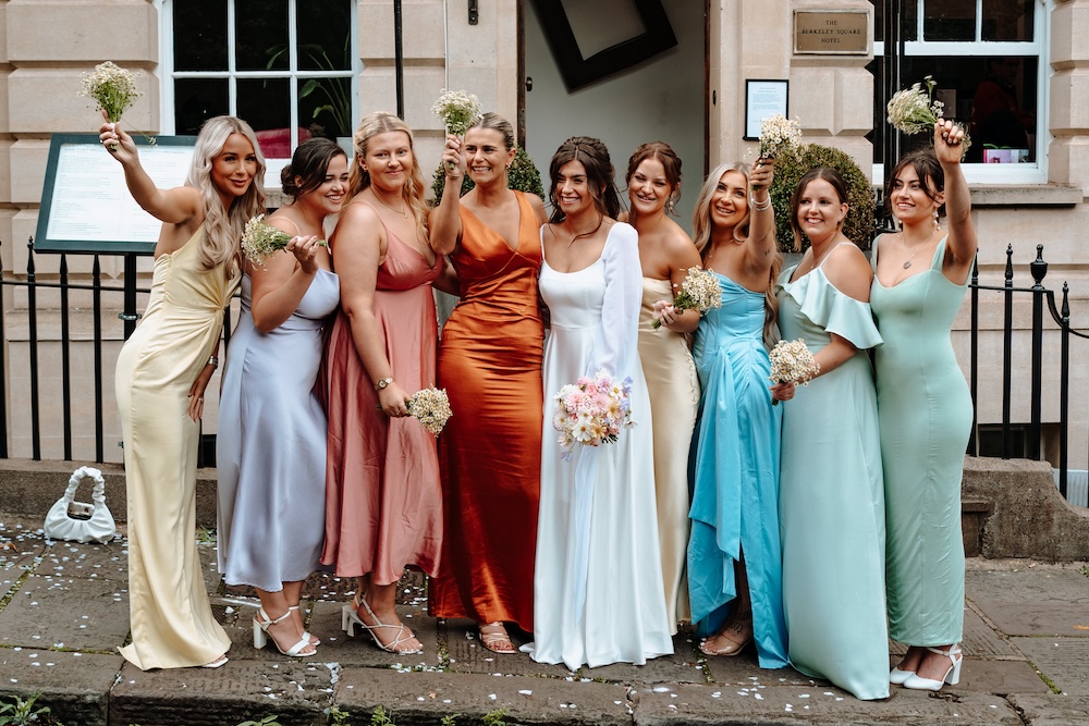
M268 221L294 235L264 264L246 261L242 316L220 403L219 568L257 589L254 645L314 655L303 628L303 580L325 533L326 415L314 394L322 328L340 299L322 223L340 211L347 159L329 139L304 141L281 174L292 198Z

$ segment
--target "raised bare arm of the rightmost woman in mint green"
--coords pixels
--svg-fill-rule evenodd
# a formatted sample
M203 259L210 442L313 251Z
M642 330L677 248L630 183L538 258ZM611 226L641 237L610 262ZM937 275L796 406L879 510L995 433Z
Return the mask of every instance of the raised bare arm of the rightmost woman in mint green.
M934 153L945 173L945 217L950 229L942 272L958 283L968 278L979 244L971 223L971 192L960 171L963 141L964 130L952 121L934 124Z

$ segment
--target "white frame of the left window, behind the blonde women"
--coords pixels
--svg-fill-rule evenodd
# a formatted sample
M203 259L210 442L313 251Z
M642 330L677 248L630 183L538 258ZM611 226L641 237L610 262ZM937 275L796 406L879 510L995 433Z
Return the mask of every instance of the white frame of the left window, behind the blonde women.
M357 48L358 34L354 28L358 27L358 1L350 0L352 29L351 59L352 67L346 71L301 71L298 70L298 29L295 19L298 12L305 12L304 0L287 0L287 45L289 61L286 70L278 71L238 71L235 67L235 0L227 0L227 57L229 67L222 71L174 71L174 3L184 0L155 0L156 9L162 22L159 23L159 67L161 69L161 90L159 101L159 113L162 119L162 133L172 135L174 127L174 81L178 78L228 78L228 113L237 113L237 81L238 78L287 78L289 93L291 98L290 127L291 127L291 150L298 146L298 81L306 78L329 78L329 77L351 77L352 79L352 118L354 119L358 109L359 98L359 52ZM266 159L267 170L265 173L265 184L273 186L280 185L280 170L287 164L291 159Z

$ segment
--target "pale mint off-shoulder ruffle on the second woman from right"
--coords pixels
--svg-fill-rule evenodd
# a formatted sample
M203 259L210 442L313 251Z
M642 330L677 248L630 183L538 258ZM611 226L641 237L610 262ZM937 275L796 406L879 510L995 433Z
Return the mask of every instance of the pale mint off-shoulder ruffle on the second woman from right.
M846 339L859 350L873 348L884 341L870 312L870 304L856 300L836 290L824 271L817 268L795 282L790 280L793 270L780 278L781 287L802 308L802 315L829 333Z

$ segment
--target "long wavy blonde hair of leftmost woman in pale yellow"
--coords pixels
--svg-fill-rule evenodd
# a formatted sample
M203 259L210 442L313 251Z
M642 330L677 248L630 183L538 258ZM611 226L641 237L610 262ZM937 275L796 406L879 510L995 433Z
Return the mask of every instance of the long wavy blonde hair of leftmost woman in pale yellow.
M236 197L230 209L223 209L219 190L211 181L211 167L231 134L242 134L254 147L257 171L246 193ZM235 116L215 116L206 121L193 148L193 164L185 185L195 187L205 205L205 233L198 250L200 267L211 270L227 262L227 275L233 278L242 264L241 241L246 222L265 211L265 155L249 124Z

